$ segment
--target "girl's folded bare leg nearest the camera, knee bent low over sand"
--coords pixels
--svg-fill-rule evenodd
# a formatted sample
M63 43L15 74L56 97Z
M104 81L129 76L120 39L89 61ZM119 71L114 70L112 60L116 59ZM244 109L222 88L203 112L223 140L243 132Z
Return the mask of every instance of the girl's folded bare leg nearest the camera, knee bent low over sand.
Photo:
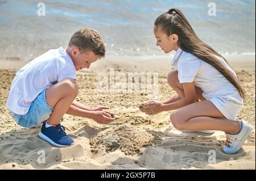
M229 134L240 131L238 121L228 120L209 100L179 108L171 113L170 120L180 130L218 130Z

